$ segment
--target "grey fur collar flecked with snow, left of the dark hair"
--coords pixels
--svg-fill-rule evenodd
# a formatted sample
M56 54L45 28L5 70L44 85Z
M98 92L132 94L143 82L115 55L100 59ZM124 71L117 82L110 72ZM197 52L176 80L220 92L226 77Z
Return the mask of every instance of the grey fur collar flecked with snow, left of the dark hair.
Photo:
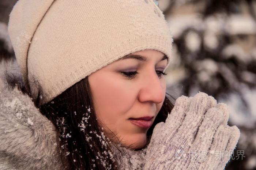
M7 85L6 71L20 75L16 61L0 63L0 169L64 169L53 124L29 96Z

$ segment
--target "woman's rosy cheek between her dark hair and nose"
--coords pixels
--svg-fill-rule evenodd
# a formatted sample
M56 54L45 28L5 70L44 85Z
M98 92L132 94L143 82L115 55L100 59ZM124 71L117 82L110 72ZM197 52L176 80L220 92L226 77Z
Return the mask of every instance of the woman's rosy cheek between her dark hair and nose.
M97 117L104 124L117 121L133 105L136 95L124 80L114 76L89 76L93 102Z

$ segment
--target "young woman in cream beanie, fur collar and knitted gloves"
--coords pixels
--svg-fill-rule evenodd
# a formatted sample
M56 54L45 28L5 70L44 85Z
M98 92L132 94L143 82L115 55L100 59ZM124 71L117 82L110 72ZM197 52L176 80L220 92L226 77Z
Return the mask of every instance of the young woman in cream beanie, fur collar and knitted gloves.
M213 152L239 130L206 94L166 96L172 38L154 0L19 0L8 31L22 82L0 88L0 169L225 167Z

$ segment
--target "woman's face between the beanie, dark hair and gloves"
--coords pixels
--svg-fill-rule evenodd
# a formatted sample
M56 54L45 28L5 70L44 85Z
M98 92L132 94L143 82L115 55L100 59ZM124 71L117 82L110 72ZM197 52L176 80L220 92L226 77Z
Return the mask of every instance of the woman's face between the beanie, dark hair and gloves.
M163 53L143 50L88 77L95 113L108 137L116 135L124 146L133 149L146 145L147 131L165 98L166 65Z

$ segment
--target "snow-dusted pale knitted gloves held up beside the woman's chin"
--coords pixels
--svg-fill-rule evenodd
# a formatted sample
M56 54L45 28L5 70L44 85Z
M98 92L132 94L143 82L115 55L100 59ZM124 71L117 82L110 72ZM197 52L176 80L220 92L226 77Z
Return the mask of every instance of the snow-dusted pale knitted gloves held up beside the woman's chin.
M228 118L227 106L205 93L178 98L166 122L154 128L143 169L223 170L240 136Z

